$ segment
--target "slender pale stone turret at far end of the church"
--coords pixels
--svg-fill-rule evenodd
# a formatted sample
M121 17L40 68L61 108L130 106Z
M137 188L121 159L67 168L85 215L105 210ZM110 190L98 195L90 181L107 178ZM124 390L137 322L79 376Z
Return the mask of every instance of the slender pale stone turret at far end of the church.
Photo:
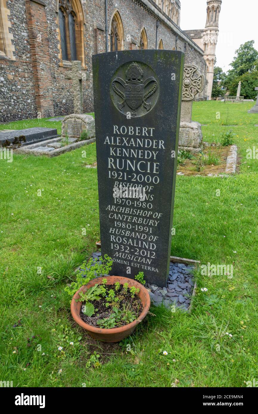
M219 34L219 13L222 0L207 1L207 19L205 29L203 31L203 50L204 59L207 63L207 96L211 99L212 82L214 74L215 50Z

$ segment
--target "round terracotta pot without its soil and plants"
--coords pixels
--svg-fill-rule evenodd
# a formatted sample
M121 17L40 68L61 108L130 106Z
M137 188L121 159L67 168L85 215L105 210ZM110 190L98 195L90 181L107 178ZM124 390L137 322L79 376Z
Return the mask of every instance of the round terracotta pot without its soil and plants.
M128 323L128 325L124 325L119 328L111 328L111 329L96 328L94 326L88 325L82 320L82 318L80 317L80 309L82 306L82 302L80 301L76 302L77 299L80 299L79 292L80 291L86 292L87 289L94 286L96 283L101 282L102 279L107 279L107 285L113 285L115 282L119 282L120 284L125 284L127 282L129 285L129 288L132 286L135 286L140 289L138 296L142 302L143 310L137 319L135 319L131 323ZM82 286L72 298L71 312L72 312L72 317L74 318L75 322L77 322L78 325L82 326L85 330L87 330L87 332L89 333L89 335L92 336L92 338L98 339L99 341L102 341L102 342L118 342L128 337L135 330L136 325L140 323L147 315L149 311L149 306L150 306L149 292L147 291L147 289L145 289L144 286L142 286L142 284L136 282L136 280L128 279L128 277L107 276L107 277L98 277L97 279L92 279L89 283Z

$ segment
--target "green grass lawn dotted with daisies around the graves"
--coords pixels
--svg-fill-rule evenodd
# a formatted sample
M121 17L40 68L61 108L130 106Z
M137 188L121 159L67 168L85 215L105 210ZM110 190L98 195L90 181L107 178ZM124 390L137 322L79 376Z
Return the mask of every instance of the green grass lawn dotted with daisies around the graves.
M95 144L54 158L0 160L1 380L14 387L245 387L258 378L258 160L246 159L247 148L258 148L258 115L247 113L251 106L194 102L193 120L207 124L205 141L233 130L239 174L176 178L171 254L233 265L233 278L199 271L192 313L152 307L130 347L88 337L73 323L64 292L99 240L96 168L84 167L96 161ZM0 128L60 132L60 124ZM90 363L94 351L98 369Z

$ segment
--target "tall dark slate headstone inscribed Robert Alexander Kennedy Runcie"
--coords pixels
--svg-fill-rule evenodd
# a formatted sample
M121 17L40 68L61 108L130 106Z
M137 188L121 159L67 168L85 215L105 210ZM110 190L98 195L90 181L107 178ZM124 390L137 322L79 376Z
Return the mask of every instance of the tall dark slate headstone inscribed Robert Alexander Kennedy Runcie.
M158 286L169 271L183 56L92 56L101 254L111 274L143 271Z

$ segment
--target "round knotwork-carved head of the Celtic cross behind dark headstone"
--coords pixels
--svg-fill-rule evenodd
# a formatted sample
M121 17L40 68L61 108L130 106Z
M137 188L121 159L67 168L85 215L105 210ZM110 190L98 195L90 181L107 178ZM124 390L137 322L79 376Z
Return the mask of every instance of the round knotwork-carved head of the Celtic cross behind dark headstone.
M183 101L192 101L203 90L204 77L196 65L185 65L183 69Z

